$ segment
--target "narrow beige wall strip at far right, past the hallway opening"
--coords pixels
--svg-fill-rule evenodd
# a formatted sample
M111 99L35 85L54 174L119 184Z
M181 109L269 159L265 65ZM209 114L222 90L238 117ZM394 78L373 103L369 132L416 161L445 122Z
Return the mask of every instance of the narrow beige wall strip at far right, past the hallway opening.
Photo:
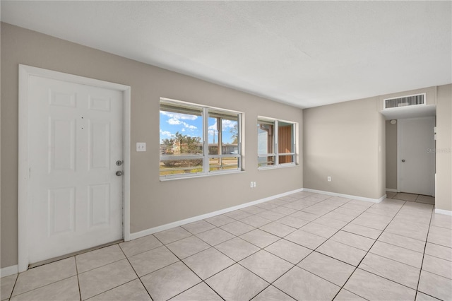
M452 85L440 85L436 103L436 208L452 211Z

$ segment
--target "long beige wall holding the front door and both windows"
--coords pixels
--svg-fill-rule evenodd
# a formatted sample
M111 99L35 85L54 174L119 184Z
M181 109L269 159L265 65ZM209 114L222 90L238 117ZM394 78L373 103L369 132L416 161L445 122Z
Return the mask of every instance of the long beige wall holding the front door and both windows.
M131 86L131 232L303 187L301 162L258 171L256 158L257 116L298 122L301 143L302 110L1 23L1 267L17 264L18 64ZM244 112L245 172L160 182L160 97Z

